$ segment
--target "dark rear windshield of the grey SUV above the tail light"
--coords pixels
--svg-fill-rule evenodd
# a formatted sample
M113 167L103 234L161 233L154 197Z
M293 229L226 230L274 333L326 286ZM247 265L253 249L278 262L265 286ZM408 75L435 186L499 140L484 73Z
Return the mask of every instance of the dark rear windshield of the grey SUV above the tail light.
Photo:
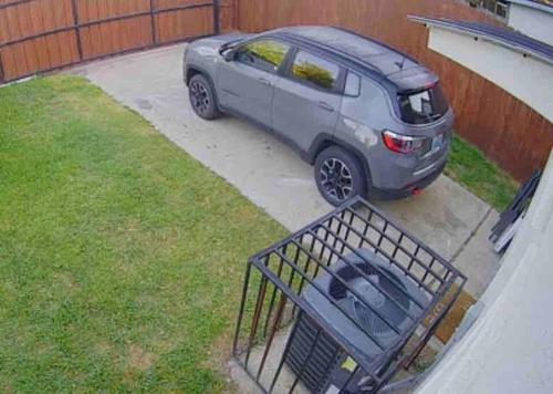
M444 116L449 105L439 85L409 94L399 94L401 120L410 124L431 123Z

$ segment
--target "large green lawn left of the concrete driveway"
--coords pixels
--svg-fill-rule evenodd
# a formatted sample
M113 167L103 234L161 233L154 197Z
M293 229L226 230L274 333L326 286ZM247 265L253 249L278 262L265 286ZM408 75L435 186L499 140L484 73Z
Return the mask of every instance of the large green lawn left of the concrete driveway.
M0 391L227 391L247 258L286 231L82 79L0 89Z

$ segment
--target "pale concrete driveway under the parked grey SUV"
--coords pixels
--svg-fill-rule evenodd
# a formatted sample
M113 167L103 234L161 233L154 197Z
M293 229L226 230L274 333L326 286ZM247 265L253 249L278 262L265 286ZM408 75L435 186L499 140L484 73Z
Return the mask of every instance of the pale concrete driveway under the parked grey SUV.
M271 135L232 117L205 122L188 104L184 44L91 63L72 70L140 113L160 133L236 186L291 231L332 207L319 195L313 168ZM225 198L225 196L221 196ZM497 212L442 176L422 195L378 203L414 235L469 277L479 297L499 259L487 241Z

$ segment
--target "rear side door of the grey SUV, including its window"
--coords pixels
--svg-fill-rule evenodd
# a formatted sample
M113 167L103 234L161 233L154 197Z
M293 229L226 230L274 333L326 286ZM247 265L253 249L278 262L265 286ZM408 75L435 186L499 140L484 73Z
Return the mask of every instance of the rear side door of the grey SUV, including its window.
M274 87L273 128L302 151L321 133L334 134L342 105L340 65L296 50Z

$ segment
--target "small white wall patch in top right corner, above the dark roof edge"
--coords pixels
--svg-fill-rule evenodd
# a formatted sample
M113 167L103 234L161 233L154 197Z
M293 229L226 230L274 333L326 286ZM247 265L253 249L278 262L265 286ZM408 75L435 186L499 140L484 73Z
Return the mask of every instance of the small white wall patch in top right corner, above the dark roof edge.
M523 34L553 46L553 13L511 3L508 24Z

